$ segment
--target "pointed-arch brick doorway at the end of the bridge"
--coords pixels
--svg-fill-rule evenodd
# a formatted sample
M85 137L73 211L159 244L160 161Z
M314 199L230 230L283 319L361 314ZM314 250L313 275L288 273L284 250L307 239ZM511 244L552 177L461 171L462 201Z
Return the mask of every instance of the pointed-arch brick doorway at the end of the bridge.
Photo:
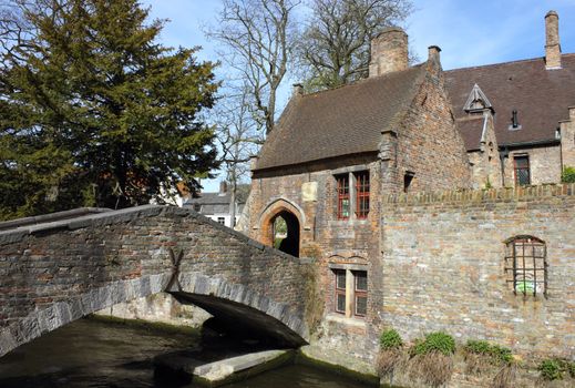
M304 211L292 202L278 198L266 206L259 216L259 241L268 246L275 245L278 218L287 226L287 236L277 248L291 256L299 257L300 237L306 223Z

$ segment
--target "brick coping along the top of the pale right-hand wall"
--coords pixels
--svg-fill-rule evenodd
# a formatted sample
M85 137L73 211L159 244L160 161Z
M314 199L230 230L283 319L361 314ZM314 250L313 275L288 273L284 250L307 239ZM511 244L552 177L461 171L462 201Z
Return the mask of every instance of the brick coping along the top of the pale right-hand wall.
M432 203L513 202L520 200L528 201L567 196L575 196L575 183L489 190L452 190L430 193L389 194L383 196L383 203L419 205Z

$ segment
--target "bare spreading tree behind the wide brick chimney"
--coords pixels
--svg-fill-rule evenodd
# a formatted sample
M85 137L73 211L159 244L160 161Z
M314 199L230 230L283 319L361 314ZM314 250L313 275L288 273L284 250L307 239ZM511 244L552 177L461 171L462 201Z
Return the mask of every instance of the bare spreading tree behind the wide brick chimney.
M367 76L371 39L413 10L410 0L310 0L310 8L298 58L311 90Z

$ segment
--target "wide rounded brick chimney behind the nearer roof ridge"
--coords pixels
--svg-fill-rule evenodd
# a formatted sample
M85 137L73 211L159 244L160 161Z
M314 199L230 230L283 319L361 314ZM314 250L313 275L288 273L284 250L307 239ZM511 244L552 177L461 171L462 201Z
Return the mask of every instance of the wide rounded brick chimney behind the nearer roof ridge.
M371 40L369 76L379 76L408 69L408 34L391 27Z

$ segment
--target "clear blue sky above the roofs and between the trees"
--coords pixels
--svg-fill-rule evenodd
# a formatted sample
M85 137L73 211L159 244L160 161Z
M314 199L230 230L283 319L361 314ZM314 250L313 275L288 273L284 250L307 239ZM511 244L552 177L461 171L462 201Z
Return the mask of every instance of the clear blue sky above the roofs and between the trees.
M575 52L575 0L414 0L415 12L404 25L412 50L427 59L428 47L442 49L444 69L514 61L544 55L544 16L559 14L564 53ZM201 60L216 61L216 48L206 40L203 25L214 22L219 0L142 0L152 18L168 19L161 39L177 47L201 45ZM292 80L296 81L296 80ZM291 82L288 82L291 83ZM281 102L288 96L288 88ZM217 182L204 183L205 191Z

